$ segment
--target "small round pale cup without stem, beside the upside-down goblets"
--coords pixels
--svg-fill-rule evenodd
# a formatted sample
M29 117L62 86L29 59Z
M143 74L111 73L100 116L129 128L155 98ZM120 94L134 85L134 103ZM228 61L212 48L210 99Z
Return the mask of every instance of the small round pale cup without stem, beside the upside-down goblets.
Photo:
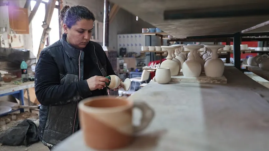
M171 72L169 68L157 68L155 72L155 80L158 84L167 84L171 80Z

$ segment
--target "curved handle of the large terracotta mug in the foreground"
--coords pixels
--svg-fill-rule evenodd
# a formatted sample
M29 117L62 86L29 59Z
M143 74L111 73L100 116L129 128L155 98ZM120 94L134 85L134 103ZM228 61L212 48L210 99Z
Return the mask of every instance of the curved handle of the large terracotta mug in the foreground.
M134 108L138 108L142 112L142 118L139 126L134 126L134 133L140 132L149 126L154 117L154 111L144 102L134 102Z

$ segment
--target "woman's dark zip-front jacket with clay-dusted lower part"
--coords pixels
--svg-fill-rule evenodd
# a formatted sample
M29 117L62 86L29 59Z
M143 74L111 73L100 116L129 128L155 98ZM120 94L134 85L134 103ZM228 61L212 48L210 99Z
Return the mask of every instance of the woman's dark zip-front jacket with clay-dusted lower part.
M103 76L115 75L101 45L90 41L86 48ZM39 111L40 140L51 146L78 130L78 102L91 95L83 80L84 52L69 45L66 35L44 48L35 67L35 94ZM103 95L107 89L103 89Z

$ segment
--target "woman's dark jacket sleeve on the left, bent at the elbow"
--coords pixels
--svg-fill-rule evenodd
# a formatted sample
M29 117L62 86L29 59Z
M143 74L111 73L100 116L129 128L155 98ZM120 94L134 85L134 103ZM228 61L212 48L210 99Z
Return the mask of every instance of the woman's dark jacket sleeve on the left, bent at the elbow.
M87 81L60 84L59 69L54 59L41 52L35 67L35 95L40 104L58 106L74 103L91 94Z

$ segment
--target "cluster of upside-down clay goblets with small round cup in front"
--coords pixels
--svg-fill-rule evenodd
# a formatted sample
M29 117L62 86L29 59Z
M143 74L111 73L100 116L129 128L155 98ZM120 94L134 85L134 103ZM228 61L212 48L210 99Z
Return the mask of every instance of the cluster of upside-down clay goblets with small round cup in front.
M155 80L160 84L168 83L171 76L177 76L182 68L183 76L199 77L204 71L205 76L220 77L224 72L224 62L218 57L218 49L224 45L203 45L203 44L177 44L161 46L166 49L167 60L163 61L160 68L156 70ZM188 55L182 53L183 48L190 51ZM199 49L204 49L198 53ZM167 73L170 70L170 75ZM165 80L164 80L165 79Z

